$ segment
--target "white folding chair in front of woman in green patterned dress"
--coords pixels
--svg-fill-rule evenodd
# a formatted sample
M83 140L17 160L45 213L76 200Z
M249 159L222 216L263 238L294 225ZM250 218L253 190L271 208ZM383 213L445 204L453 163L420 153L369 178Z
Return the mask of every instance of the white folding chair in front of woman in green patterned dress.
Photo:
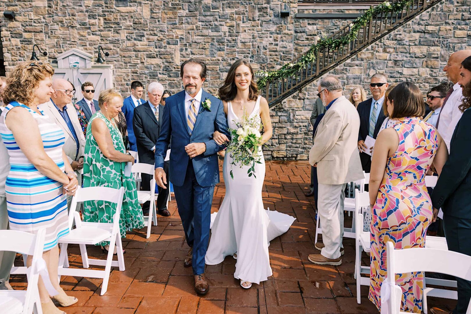
M59 255L59 281L60 276L77 276L89 278L103 278L101 286L101 295L104 295L108 289L108 280L110 277L111 267L119 267L120 271L124 271L124 256L122 253L121 233L119 229L119 218L121 214L122 200L124 195L124 187L113 189L110 187L94 186L77 188L75 196L72 198L71 206L75 208L78 202L83 201L107 201L116 203L116 212L111 223L84 222L80 219L80 214L76 211L69 213L69 234L59 239L60 255ZM72 224L75 222L75 229ZM106 260L89 258L87 255L86 245L95 245L103 241L109 241L108 256ZM82 258L83 268L89 268L89 265L105 266L105 270L77 269L67 268L68 256L67 246L69 244L79 244ZM114 247L116 246L118 260L113 260Z

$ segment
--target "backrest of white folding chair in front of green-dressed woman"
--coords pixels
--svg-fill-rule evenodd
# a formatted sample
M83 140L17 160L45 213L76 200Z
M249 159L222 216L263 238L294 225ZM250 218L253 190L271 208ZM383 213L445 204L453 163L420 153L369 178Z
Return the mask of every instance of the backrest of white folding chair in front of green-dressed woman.
M124 186L119 189L105 186L78 187L72 198L70 208L77 208L77 203L83 201L108 201L116 203L116 213L121 214ZM69 230L72 230L75 210L69 212ZM80 216L79 216L80 217Z

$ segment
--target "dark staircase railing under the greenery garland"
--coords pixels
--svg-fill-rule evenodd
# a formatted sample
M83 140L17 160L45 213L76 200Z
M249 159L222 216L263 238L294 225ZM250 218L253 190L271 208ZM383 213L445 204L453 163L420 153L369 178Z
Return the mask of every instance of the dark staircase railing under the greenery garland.
M392 0L391 4L399 0ZM297 72L296 76L290 78L281 78L275 81L268 81L265 86L265 97L268 105L273 106L281 102L286 97L297 92L299 89L316 80L326 72L329 72L338 64L354 56L357 52L381 39L383 36L393 31L402 24L410 21L426 9L434 6L441 0L412 0L411 4L402 10L393 14L379 13L373 15L363 29L358 32L356 39L351 40L343 47L330 50L328 48L317 51L315 63ZM336 39L349 32L350 26L347 25L330 38ZM302 56L302 55L301 55ZM299 56L292 63L301 57Z

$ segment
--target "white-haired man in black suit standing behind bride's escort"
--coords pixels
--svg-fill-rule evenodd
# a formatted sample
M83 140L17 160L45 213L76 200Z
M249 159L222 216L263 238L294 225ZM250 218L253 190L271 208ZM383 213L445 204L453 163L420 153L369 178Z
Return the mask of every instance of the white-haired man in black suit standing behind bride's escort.
M155 143L159 137L160 124L163 105L160 105L162 98L163 86L160 83L152 82L147 89L149 100L134 109L134 117L132 127L134 135L136 136L136 144L138 147L139 162L144 162L153 165L155 162ZM169 162L165 161L164 171L168 177ZM151 175L143 173L141 175L141 187L143 191L150 191ZM157 209L160 215L170 216L167 209L167 199L170 193L170 181L167 180L167 188L159 187L159 196L157 197ZM149 212L150 201L147 201L142 206L144 215Z

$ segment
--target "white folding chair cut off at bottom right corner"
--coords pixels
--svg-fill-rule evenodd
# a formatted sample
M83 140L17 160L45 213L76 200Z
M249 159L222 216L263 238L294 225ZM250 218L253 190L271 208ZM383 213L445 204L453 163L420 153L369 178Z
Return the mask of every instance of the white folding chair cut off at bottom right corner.
M411 272L434 272L452 275L471 281L471 257L457 252L438 249L414 248L394 250L392 242L386 243L387 277L381 286L381 313L398 314L400 311L402 290L396 285L396 274ZM426 288L429 292L432 288ZM423 309L426 313L427 298L423 297ZM456 294L456 291L449 291ZM471 304L466 314L471 314Z

